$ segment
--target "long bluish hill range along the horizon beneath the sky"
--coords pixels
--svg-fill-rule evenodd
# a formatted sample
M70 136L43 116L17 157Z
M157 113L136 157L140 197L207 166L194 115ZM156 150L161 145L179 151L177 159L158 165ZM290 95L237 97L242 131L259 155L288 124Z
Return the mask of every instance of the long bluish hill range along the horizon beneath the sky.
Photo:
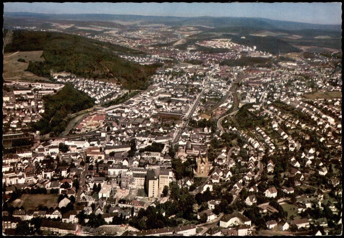
M165 24L170 26L204 25L211 27L248 26L262 29L302 30L323 29L341 31L341 25L320 25L291 21L278 21L265 18L244 17L175 17L175 16L140 16L140 15L112 15L112 14L43 14L30 12L4 12L6 18L36 18L44 20L74 20L74 21L144 21L152 24Z

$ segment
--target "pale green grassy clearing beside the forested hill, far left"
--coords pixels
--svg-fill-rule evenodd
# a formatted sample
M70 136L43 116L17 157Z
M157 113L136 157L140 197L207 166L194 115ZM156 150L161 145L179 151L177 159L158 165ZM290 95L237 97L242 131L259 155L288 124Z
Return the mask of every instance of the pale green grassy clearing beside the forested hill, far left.
M43 77L38 77L29 71L25 71L28 68L29 61L43 61L41 58L43 51L26 51L17 53L6 53L3 57L3 79L4 80L47 80ZM25 59L26 63L18 62L18 59Z

